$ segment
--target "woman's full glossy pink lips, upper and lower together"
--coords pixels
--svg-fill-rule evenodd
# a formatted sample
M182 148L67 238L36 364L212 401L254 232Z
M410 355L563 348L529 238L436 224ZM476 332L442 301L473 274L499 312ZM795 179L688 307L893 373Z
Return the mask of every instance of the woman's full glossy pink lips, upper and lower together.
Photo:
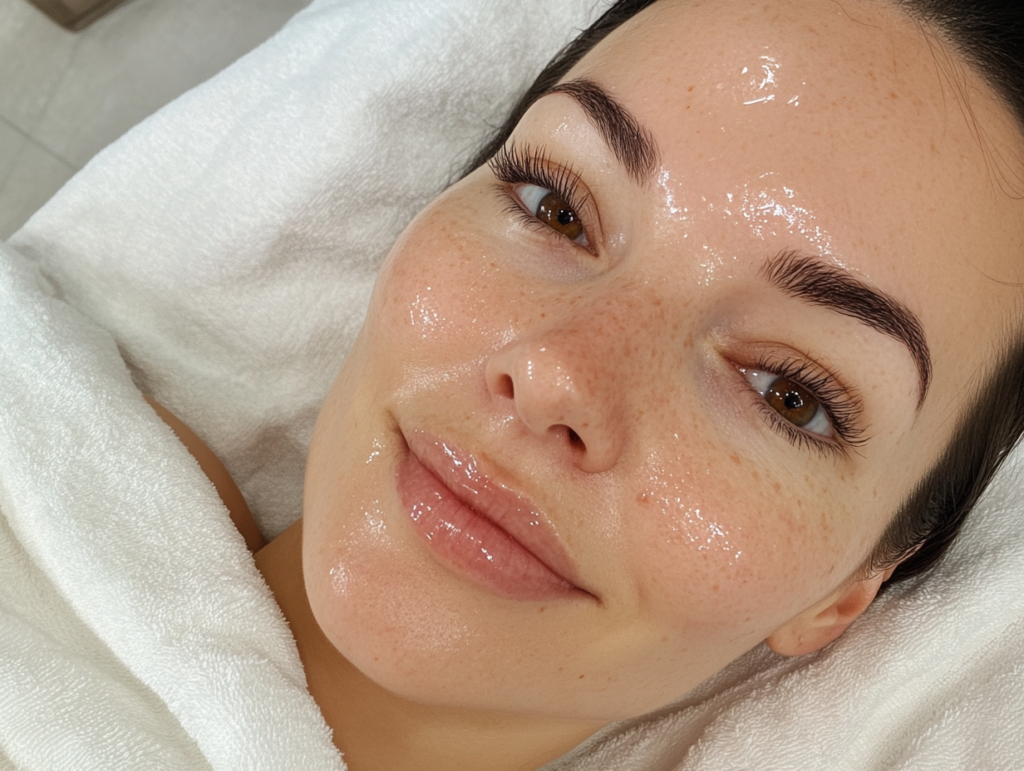
M453 444L422 431L403 436L398 495L414 531L442 564L507 599L592 597L528 499L495 483Z

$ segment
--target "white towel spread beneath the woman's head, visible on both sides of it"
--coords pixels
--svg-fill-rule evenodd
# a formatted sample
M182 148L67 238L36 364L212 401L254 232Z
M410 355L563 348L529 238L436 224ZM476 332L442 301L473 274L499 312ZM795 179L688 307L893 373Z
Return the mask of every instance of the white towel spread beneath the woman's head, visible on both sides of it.
M298 515L312 420L379 259L594 14L318 0L98 157L14 243L224 459L272 536ZM551 768L1024 767L1022 575L1011 469L949 557L836 644L758 648Z

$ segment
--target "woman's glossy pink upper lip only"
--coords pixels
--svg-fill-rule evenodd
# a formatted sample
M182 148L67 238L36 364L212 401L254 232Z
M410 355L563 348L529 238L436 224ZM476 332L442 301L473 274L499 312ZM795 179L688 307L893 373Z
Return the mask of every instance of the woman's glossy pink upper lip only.
M555 528L527 497L492 480L476 458L447 441L420 430L402 435L410 452L465 506L508 533L549 570L587 591Z

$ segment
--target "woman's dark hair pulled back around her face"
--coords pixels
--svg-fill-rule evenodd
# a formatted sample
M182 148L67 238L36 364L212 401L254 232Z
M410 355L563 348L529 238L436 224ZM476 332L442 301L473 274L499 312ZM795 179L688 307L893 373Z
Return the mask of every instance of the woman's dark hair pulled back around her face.
M657 0L618 0L563 48L516 102L505 123L473 158L466 173L486 163L508 140L530 105L557 84L609 33ZM942 40L992 87L1017 120L1024 149L1024 3L1010 0L892 0L927 34ZM1024 257L1024 255L1022 255ZM1002 346L978 384L952 438L890 521L865 568L897 562L890 582L918 575L949 548L992 475L1024 434L1024 326ZM909 556L908 556L909 555Z

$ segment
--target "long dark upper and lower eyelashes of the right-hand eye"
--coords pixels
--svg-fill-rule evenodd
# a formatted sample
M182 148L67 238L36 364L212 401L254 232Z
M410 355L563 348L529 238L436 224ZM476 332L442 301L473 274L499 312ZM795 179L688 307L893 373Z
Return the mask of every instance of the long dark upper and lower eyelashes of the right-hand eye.
M867 441L864 428L859 419L863 413L860 397L855 392L841 386L828 373L799 359L770 359L761 357L755 368L761 372L770 372L786 380L793 380L813 394L828 417L828 423L839 438L817 436L808 431L802 431L769 406L763 398L759 399L769 418L772 427L779 431L797 446L811 446L825 453L847 455L847 451L858 447Z

